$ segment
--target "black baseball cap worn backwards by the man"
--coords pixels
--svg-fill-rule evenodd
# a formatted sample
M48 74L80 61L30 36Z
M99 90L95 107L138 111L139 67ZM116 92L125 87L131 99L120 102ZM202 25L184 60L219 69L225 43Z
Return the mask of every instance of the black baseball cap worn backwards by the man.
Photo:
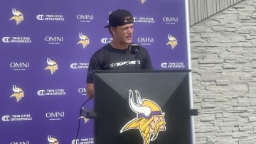
M108 28L110 26L117 27L117 26L124 26L129 23L133 23L133 16L132 13L125 9L117 9L110 13L109 16L109 24L104 28Z

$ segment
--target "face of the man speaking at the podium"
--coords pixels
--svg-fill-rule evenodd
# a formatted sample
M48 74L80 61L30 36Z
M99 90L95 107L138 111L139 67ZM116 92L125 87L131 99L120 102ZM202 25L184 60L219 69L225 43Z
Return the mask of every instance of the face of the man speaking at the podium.
M134 33L134 24L126 24L124 26L117 26L112 28L113 38L119 43L132 43L132 34Z

